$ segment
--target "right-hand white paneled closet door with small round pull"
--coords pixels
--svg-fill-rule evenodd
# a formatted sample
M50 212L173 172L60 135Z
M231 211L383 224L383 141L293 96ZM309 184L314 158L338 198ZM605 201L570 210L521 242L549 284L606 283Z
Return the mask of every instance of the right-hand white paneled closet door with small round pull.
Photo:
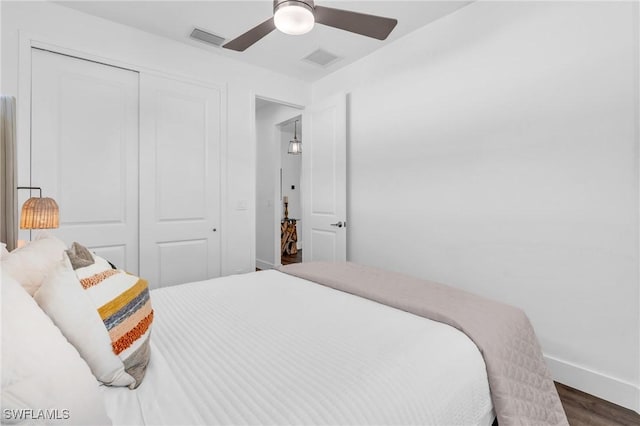
M220 275L221 99L140 77L140 274L152 287Z

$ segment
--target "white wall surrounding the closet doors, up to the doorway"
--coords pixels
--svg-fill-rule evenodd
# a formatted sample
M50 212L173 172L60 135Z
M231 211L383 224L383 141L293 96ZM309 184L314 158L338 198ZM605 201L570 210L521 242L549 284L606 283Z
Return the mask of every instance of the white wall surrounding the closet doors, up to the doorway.
M18 184L29 182L28 102L19 82L29 70L19 66L20 31L35 39L117 61L136 70L162 72L226 86L227 122L223 155L223 274L255 267L255 95L305 105L309 85L266 69L246 65L124 25L50 2L6 2L2 8L1 91L18 99ZM55 47L54 46L54 47ZM28 54L28 50L27 50ZM19 79L20 76L20 79ZM24 87L21 86L21 87ZM25 125L26 123L26 125Z

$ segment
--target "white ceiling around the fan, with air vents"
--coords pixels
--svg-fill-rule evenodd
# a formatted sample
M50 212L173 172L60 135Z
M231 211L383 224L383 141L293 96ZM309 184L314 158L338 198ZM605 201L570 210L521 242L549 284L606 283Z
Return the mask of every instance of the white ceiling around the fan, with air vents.
M273 14L272 0L260 1L58 1L64 6L186 43L212 54L248 62L301 80L315 81L376 49L445 16L470 1L322 1L322 6L396 18L389 38L379 41L324 25L302 36L274 31L245 52L192 40L198 27L231 40ZM302 60L318 48L342 59L320 67Z

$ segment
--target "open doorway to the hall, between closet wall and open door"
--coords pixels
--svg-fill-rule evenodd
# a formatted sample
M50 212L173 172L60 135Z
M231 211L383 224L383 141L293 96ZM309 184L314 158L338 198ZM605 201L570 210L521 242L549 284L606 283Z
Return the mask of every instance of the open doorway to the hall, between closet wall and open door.
M256 269L302 260L302 109L256 97ZM286 203L286 206L285 206Z

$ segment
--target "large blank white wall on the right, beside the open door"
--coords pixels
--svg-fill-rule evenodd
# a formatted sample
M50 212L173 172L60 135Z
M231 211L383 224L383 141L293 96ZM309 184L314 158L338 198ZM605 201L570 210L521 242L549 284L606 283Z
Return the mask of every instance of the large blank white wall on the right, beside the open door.
M523 308L559 381L636 411L638 16L480 1L313 86L351 92L350 260Z

